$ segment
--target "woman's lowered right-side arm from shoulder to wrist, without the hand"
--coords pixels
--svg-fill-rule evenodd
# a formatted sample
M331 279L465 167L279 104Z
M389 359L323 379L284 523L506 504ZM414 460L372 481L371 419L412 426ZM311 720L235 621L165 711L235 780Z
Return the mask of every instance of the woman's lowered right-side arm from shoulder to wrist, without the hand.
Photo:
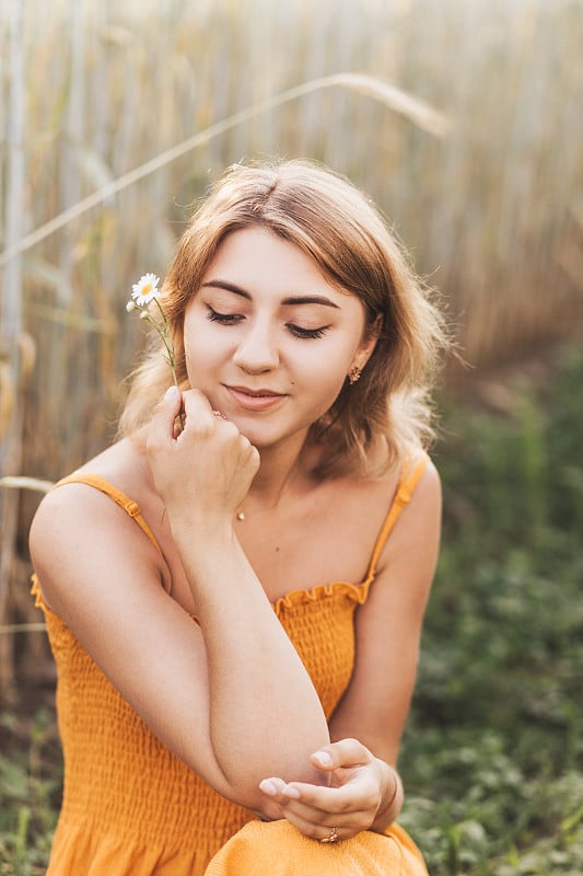
M330 721L333 739L357 736L393 765L413 693L440 531L441 484L429 463L357 611L354 671Z

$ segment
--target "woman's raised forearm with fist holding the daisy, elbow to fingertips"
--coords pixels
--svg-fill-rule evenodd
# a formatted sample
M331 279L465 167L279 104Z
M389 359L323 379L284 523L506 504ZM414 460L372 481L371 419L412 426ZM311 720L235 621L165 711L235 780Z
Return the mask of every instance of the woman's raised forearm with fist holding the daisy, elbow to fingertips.
M183 404L185 427L175 437ZM259 454L198 390L166 393L147 452L205 638L221 788L257 808L263 779L317 782L308 758L329 739L314 685L233 530Z

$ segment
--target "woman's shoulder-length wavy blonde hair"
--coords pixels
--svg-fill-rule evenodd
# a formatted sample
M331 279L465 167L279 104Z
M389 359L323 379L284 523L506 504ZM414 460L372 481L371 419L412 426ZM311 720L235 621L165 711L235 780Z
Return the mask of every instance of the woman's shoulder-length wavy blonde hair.
M429 393L447 335L430 290L372 203L348 180L308 161L236 164L210 189L178 243L160 302L174 344L180 389L188 389L183 325L217 247L231 232L260 226L299 246L365 310L365 332L381 318L375 349L360 380L345 382L311 437L323 445L320 477L371 472L382 442L390 464L433 437ZM153 337L130 378L119 434L135 434L170 384L164 350ZM376 459L378 454L375 454Z

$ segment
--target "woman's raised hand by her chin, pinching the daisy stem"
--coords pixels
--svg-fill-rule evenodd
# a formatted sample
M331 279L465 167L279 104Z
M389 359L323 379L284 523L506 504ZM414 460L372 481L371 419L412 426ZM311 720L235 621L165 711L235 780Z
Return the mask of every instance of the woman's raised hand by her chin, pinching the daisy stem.
M184 411L184 429L175 422ZM259 468L259 452L234 423L212 411L199 390L172 387L156 405L147 453L171 523L188 520L209 531L232 522Z

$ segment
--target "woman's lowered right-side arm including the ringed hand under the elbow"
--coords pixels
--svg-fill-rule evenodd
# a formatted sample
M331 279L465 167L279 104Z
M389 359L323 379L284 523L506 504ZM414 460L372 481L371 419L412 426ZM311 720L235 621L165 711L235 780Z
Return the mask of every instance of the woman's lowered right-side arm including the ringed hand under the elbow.
M340 839L363 829L382 831L400 811L397 754L415 687L440 523L440 480L429 465L387 541L369 598L357 612L354 671L330 719L333 742L323 747L329 761L320 769L330 774L334 786L270 780L276 789L271 799L307 835L322 839L330 826ZM318 758L313 762L318 764Z

